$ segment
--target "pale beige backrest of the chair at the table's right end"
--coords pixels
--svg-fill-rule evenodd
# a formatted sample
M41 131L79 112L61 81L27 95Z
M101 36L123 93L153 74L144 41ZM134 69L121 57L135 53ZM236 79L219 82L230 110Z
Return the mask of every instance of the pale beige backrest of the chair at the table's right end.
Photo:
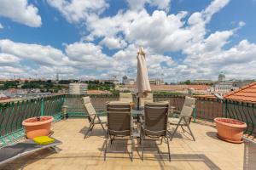
M195 98L186 96L180 116L190 117L195 108Z

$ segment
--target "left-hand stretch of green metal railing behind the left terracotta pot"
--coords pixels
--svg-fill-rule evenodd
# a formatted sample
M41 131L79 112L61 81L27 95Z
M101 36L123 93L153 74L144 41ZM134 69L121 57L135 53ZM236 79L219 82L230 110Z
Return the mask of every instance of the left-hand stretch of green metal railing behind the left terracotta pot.
M0 145L14 143L24 137L22 121L33 116L54 116L61 120L65 95L28 99L0 104Z

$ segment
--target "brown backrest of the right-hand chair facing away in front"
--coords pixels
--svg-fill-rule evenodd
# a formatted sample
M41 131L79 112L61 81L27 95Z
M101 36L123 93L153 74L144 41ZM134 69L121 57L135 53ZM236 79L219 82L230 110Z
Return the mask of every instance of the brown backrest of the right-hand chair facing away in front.
M147 103L144 107L144 133L151 136L166 136L169 102Z

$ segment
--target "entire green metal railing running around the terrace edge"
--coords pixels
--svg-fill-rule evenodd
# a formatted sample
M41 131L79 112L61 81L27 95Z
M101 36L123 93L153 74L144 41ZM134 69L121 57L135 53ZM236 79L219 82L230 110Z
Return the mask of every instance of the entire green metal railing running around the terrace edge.
M22 121L32 116L54 116L55 121L63 118L61 107L67 105L69 117L87 116L82 104L84 95L56 95L40 99L28 99L18 102L0 103L0 145L14 143L24 137ZM119 95L90 95L96 111L106 111L106 102L119 100ZM137 99L134 96L135 107ZM154 94L154 101L168 100L175 110L181 111L184 96ZM202 119L213 122L218 116L230 117L247 123L245 133L256 136L256 105L238 101L196 97L194 121Z

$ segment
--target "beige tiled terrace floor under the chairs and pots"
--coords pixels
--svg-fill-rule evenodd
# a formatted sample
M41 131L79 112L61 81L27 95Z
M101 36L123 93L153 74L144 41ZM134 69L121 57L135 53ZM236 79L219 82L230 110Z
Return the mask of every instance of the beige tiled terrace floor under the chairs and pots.
M30 156L13 161L2 169L247 169L256 168L256 144L230 144L216 138L216 129L199 123L191 123L196 141L187 133L179 131L170 143L172 161L167 155L159 155L157 150L166 152L166 143L157 147L154 142L147 142L144 161L137 145L134 150L134 161L128 154L108 154L103 160L104 138L100 127L96 127L90 138L84 139L87 120L68 119L56 122L53 126L56 139L63 144L61 151L41 150ZM179 129L181 130L181 129ZM127 142L114 142L108 150L125 150ZM131 143L128 142L130 150Z

